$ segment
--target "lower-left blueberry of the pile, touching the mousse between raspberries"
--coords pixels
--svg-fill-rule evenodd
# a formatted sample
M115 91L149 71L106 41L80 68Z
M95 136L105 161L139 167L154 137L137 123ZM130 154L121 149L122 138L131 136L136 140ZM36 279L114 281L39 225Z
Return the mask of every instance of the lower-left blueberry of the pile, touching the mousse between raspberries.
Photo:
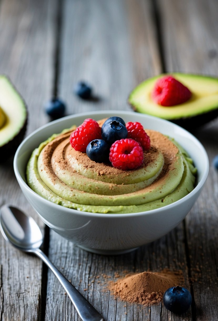
M91 160L103 163L109 160L109 146L103 139L94 139L86 147L86 153Z

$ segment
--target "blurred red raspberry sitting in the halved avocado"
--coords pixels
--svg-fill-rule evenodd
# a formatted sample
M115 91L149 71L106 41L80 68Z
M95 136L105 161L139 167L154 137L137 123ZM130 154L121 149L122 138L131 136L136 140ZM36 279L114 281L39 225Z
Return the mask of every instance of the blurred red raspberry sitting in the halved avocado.
M152 99L161 106L182 104L191 95L191 91L172 76L158 79L152 91Z

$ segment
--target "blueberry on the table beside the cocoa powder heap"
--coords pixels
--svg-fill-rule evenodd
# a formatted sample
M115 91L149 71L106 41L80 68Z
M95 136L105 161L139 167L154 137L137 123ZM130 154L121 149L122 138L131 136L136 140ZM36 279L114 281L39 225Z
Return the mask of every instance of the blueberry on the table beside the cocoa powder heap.
M180 286L169 288L163 295L163 304L174 313L184 313L191 305L191 293Z

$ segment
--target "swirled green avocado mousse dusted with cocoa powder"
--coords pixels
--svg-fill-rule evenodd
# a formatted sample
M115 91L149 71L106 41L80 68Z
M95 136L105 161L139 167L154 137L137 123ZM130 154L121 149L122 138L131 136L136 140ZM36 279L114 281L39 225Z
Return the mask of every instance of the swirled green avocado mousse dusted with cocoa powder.
M27 184L43 198L84 212L137 213L171 204L193 190L197 169L174 139L146 130L151 146L141 165L122 170L72 148L75 129L52 135L32 152Z

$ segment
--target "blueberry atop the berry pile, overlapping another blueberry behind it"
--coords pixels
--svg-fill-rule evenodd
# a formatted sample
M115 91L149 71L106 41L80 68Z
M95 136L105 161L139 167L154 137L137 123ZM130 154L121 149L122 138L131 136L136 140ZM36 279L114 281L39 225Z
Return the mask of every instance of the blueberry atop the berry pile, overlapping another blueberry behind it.
M101 135L105 142L111 146L116 140L127 138L128 131L126 126L113 120L101 128Z

